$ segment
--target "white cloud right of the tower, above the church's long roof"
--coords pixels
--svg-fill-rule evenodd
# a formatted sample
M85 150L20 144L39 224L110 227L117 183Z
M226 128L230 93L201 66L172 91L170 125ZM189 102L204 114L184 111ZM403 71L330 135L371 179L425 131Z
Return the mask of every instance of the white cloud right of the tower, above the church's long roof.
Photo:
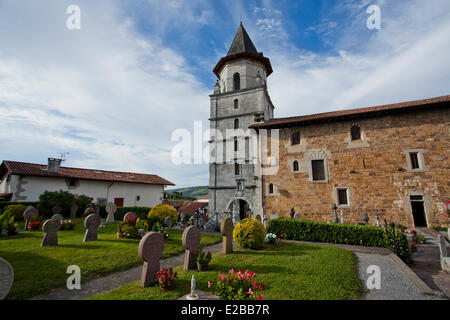
M266 42L264 50L274 68L269 93L276 117L450 93L450 3L414 0L385 5L383 28L375 31L365 27L363 2L338 4L334 10L354 20L333 35L337 38L327 52Z

